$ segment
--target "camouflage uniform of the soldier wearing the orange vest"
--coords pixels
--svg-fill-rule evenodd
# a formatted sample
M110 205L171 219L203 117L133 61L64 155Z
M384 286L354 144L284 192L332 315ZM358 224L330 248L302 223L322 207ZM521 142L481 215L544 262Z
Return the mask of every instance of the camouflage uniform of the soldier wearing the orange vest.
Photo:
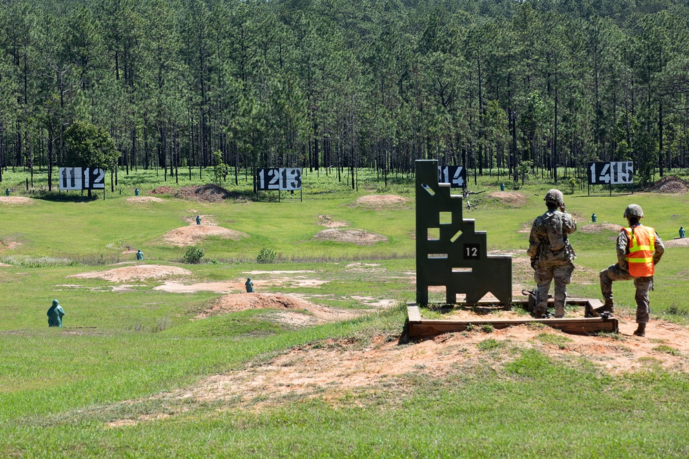
M641 226L639 224L639 226ZM653 246L653 264L660 261L665 246L658 233L654 231L655 244ZM637 323L648 323L648 312L650 303L648 302L648 290L653 284L653 277L634 277L629 274L629 267L627 264L627 256L629 255L629 237L627 232L622 229L617 236L617 264L608 266L608 268L601 270L601 293L603 298L608 301L613 301L613 281L628 281L634 279L634 286L637 289L634 299L637 301Z

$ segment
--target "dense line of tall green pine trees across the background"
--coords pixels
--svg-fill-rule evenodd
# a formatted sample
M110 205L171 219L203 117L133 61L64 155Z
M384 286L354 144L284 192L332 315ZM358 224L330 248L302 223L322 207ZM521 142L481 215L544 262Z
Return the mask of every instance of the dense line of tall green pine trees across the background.
M5 169L65 164L76 121L166 178L689 162L686 0L3 0L0 30Z

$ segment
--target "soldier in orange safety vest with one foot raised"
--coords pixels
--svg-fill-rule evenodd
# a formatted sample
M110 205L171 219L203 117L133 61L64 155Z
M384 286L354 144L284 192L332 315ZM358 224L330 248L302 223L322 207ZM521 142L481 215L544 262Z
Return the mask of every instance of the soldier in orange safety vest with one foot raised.
M628 281L634 279L637 289L637 330L638 337L646 336L648 323L648 290L653 285L655 265L660 261L665 251L663 241L650 226L643 226L639 220L644 217L644 211L637 204L629 204L623 215L628 221L628 227L622 228L617 236L617 264L613 264L600 273L601 293L605 305L601 311L615 312L613 303L613 281Z

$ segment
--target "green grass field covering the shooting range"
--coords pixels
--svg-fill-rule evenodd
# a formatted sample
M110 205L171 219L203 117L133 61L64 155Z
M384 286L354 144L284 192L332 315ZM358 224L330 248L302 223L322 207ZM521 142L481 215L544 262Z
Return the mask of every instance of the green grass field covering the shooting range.
M194 183L205 183L198 182L198 170L194 174ZM37 189L25 191L24 179L25 174L8 172L3 184L12 185L14 196L34 198L32 204L0 202L0 261L8 265L0 266L1 457L689 456L688 355L664 337L648 339L658 340L658 359L672 356L676 367L648 359L639 362L641 370L611 373L584 356L560 359L543 351L570 346L565 336L542 333L522 343L486 334L470 349L478 358L440 376L422 371L420 363L334 395L316 387L308 396L289 388L278 398L256 392L249 401L169 396L208 376L248 371L294 348L355 343L355 350L363 350L378 346L374 337L396 341L406 319L401 305L415 298L410 281L415 270L413 178L391 177L385 187L375 175L362 173L359 190L351 191L345 178L338 182L333 173L314 172L305 176L303 202L287 193L280 202L276 195L260 195L257 201L246 182L224 183L245 198L213 204L169 196L163 202L127 201L134 186L148 195L163 184L152 171L121 172L115 193L108 189L105 200L99 195L90 201L48 195L41 174L34 176ZM512 207L489 196L501 181L478 178L471 189L488 192L477 195L477 209L465 211L464 217L475 218L477 230L488 232L490 250L526 257L528 233L522 230L544 211L542 196L553 185L527 182L516 190L526 195L526 204ZM180 180L178 186L190 183ZM644 223L665 240L689 223L688 195L617 191L610 197L598 190L588 196L586 190L562 189L569 193L567 210L579 226L593 212L599 224L623 224L622 212L630 202L644 208ZM355 205L369 193L410 201L391 208ZM248 237L200 240L203 262L183 264L186 248L169 246L163 235L199 214ZM356 246L315 240L324 229L319 215L387 241ZM615 235L604 230L572 236L577 270L570 295L600 297L597 273L615 262ZM187 283L288 271L280 275L287 284L259 291L305 295L342 310L366 308L362 298L393 300L400 307L311 326L280 321L274 310L194 319L222 294L154 290L163 279L127 281L130 287L119 291L112 287L122 283L70 277L134 261L134 255L123 254L126 248L141 248L146 264L190 270L192 275L183 279ZM256 263L262 248L276 252L276 264ZM682 329L689 321L688 255L689 248L668 248L651 292L652 319ZM276 276L251 275L254 281ZM302 277L323 283L301 286ZM515 281L529 282L528 276ZM45 311L53 298L67 314L62 329L47 327ZM633 312L630 282L615 285L615 299L623 312ZM400 349L413 352L416 345ZM620 348L633 345L619 341ZM446 352L468 351L460 346Z

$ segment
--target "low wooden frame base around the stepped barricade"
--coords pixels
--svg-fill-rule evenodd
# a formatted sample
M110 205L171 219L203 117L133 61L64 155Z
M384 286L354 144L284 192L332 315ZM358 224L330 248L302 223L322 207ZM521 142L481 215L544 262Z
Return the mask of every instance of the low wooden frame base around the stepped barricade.
M527 305L526 300L517 300L513 301L513 303L515 306L522 306L524 308L526 308ZM601 306L601 301L597 299L568 298L567 304L579 304L584 307L588 304L588 306L595 309ZM610 317L609 319L601 317L573 317L567 319L534 319L533 317L524 317L524 319L477 318L471 321L422 319L416 303L407 303L407 314L409 315L410 339L429 338L447 332L463 332L469 325L475 326L486 324L493 325L493 328L507 328L512 325L522 325L523 323L543 323L549 327L557 328L558 330L572 334L594 334L597 332L617 333L618 331L618 322L615 317Z

